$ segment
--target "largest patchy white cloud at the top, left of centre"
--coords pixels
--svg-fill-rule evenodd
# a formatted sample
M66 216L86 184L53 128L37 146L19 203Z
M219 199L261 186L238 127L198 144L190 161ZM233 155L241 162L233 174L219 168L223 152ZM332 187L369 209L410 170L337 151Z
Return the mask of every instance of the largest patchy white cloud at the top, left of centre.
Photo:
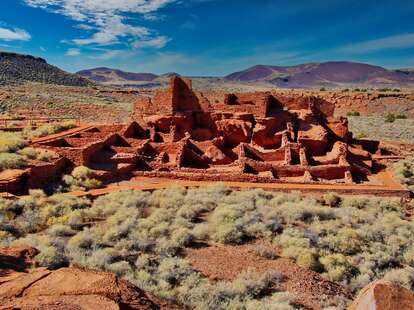
M24 0L31 7L62 14L79 22L78 28L93 32L89 36L69 42L79 45L114 45L126 42L144 42L145 47L160 48L168 39L154 31L136 25L131 14L144 19L156 19L156 12L178 0ZM128 17L126 17L128 14ZM146 42L146 43L145 43Z

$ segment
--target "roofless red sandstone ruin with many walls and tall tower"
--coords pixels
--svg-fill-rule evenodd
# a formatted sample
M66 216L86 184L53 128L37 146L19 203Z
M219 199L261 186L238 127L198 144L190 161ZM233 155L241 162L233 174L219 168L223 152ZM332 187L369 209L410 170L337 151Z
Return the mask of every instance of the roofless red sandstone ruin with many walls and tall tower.
M109 181L138 176L189 180L352 183L371 173L378 142L357 141L334 105L267 92L196 92L171 78L135 103L128 125L97 126L48 148Z

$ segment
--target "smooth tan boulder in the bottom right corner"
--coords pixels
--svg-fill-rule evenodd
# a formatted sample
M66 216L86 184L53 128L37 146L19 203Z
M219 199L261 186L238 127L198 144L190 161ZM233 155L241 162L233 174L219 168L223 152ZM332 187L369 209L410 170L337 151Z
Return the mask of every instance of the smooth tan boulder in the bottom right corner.
M361 290L348 310L413 310L414 293L391 282L378 280Z

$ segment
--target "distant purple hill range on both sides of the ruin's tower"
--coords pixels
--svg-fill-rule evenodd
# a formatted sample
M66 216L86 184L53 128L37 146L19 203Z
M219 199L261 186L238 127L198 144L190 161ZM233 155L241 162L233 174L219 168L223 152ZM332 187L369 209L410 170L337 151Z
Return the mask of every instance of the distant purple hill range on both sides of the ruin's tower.
M165 87L172 74L132 73L111 68L77 72L99 84L121 87ZM178 75L174 73L174 75ZM290 67L257 65L225 77L191 77L204 88L320 88L320 87L413 87L414 70L389 70L364 63L331 61Z

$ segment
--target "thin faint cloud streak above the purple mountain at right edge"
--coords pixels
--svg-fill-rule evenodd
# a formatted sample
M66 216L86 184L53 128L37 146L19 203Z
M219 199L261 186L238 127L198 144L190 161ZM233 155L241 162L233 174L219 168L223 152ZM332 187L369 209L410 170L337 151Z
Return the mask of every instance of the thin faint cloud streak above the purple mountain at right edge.
M387 49L414 47L414 33L399 34L375 40L357 42L340 47L337 51L351 54L368 54Z

